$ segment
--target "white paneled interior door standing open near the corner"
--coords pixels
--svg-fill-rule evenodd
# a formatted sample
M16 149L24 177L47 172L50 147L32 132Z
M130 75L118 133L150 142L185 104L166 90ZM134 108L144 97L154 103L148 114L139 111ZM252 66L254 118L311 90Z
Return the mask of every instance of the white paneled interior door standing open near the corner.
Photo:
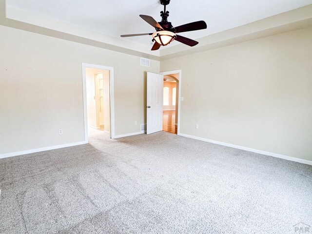
M146 134L162 131L163 75L147 73Z

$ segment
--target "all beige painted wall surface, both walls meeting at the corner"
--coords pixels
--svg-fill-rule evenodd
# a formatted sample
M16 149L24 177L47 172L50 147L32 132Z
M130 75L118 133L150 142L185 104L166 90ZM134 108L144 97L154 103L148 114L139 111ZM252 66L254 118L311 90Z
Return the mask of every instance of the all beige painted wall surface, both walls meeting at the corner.
M145 123L146 71L182 69L181 133L312 160L311 27L168 59L160 69L4 26L0 35L0 154L84 140L85 62L114 67L116 135Z

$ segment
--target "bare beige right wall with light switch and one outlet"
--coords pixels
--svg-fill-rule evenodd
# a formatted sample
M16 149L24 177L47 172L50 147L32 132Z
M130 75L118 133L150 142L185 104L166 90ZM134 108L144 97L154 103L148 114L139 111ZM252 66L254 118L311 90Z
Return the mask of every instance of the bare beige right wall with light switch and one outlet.
M181 133L312 160L311 27L160 68L182 69Z

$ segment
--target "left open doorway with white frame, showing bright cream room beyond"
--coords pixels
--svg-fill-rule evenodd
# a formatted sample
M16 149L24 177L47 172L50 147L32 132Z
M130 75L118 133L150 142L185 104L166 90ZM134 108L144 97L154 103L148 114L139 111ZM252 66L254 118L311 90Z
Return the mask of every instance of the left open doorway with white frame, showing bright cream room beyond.
M82 64L85 139L114 135L113 68Z

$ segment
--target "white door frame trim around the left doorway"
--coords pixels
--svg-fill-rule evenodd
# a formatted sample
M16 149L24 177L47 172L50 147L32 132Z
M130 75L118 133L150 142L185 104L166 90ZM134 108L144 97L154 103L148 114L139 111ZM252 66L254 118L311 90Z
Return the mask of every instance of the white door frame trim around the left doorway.
M100 70L109 70L109 98L110 98L110 137L115 138L115 105L114 105L114 67L82 63L82 91L83 91L83 120L84 120L84 140L88 139L88 117L87 117L87 92L86 92L86 68L95 68Z

